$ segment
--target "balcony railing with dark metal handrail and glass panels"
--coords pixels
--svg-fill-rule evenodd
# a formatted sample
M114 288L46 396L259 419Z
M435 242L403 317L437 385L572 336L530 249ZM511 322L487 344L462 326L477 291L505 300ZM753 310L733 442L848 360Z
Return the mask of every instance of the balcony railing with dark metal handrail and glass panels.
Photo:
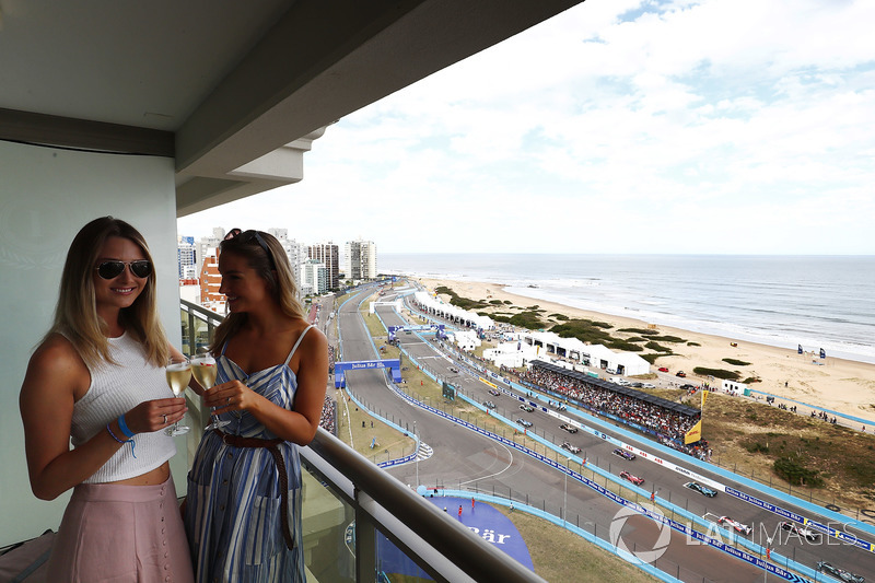
M183 301L184 350L207 346L221 320ZM196 429L203 427L198 401L189 404ZM196 431L189 433L189 451L199 439ZM404 581L544 582L327 431L319 429L301 457L311 581L382 582L406 575ZM417 573L398 572L399 553ZM395 558L392 567L389 556Z

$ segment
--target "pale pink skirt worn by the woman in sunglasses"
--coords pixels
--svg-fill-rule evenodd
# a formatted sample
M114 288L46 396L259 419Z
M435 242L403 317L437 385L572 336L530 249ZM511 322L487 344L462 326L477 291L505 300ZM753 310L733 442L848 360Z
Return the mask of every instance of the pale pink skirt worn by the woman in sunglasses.
M80 483L63 513L46 581L191 583L173 477L159 486Z

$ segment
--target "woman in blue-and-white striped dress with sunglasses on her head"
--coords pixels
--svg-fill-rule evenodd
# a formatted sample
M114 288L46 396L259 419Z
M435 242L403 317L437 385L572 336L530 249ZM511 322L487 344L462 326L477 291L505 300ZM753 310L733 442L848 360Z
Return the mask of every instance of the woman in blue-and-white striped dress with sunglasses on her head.
M219 271L230 314L211 347L217 385L202 395L230 424L205 433L188 477L196 580L303 583L298 446L316 434L328 345L307 325L273 236L226 238Z

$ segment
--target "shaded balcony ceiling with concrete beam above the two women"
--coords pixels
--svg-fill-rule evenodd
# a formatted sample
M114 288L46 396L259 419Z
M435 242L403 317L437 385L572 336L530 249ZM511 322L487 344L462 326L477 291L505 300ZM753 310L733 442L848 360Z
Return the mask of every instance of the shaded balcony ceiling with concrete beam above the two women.
M177 214L301 179L345 115L581 0L0 0L0 139L173 156Z

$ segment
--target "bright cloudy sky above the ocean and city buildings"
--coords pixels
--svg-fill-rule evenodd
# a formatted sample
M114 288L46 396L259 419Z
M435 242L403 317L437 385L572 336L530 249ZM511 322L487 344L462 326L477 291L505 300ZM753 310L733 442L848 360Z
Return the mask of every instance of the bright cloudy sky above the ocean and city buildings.
M178 220L378 253L875 254L875 1L586 0Z

